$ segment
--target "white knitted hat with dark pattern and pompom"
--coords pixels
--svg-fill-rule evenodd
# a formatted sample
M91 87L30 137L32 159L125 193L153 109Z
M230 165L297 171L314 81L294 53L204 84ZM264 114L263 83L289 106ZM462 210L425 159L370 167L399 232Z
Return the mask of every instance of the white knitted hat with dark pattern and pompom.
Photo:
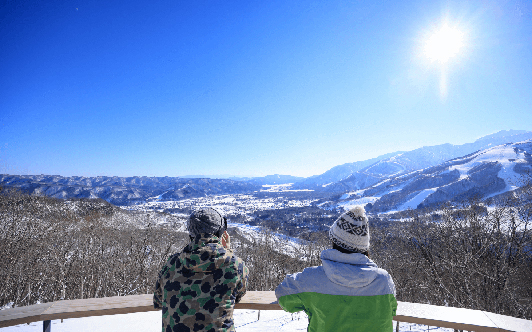
M364 207L357 205L336 219L329 228L329 238L334 244L348 251L368 251L369 226Z

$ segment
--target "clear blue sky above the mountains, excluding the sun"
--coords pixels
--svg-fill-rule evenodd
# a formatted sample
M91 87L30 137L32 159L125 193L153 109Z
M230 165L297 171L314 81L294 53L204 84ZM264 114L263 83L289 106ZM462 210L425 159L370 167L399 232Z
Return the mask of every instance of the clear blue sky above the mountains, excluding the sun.
M529 1L4 1L0 45L0 173L311 176L532 130Z

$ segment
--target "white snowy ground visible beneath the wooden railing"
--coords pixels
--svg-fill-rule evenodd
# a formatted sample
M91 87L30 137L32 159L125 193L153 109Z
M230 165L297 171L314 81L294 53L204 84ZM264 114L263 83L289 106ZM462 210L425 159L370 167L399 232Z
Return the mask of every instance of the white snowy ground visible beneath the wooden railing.
M9 310L9 309L6 309ZM290 314L281 310L235 310L235 327L237 332L292 332L306 331L307 315L302 312ZM394 322L394 331L395 331ZM452 332L452 329L429 327L427 325L400 323L400 331ZM21 324L0 328L1 332L41 332L42 322ZM51 332L160 332L161 312L139 312L134 314L71 318L53 320Z

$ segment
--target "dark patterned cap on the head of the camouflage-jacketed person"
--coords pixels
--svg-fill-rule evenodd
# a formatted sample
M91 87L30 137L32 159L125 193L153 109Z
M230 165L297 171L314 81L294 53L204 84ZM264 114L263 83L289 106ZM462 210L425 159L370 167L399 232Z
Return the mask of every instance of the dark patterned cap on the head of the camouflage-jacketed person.
M226 229L227 219L213 208L202 208L194 211L187 222L187 230L191 238L200 234L221 237Z

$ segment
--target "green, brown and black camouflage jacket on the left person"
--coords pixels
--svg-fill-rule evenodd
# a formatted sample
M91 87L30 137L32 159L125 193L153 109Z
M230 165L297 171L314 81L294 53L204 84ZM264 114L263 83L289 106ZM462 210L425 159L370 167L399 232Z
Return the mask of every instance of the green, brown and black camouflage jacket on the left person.
M197 236L163 266L153 305L163 332L235 331L233 308L246 293L248 269L216 236Z

